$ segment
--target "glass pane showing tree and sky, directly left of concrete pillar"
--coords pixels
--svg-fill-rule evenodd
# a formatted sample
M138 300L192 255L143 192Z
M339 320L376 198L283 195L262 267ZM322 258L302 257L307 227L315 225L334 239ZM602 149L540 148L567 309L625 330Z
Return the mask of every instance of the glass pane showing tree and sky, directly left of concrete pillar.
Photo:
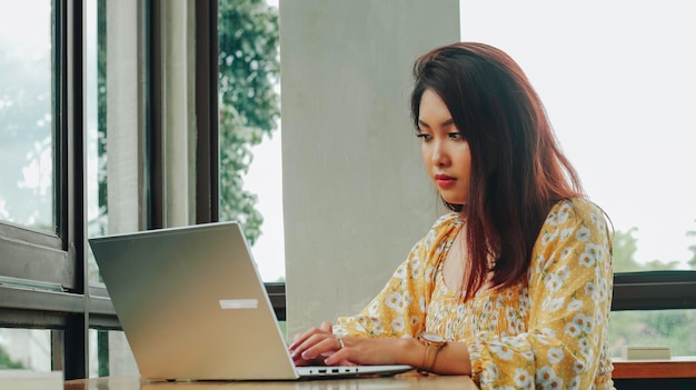
M278 0L218 10L219 217L242 224L264 281L282 281Z

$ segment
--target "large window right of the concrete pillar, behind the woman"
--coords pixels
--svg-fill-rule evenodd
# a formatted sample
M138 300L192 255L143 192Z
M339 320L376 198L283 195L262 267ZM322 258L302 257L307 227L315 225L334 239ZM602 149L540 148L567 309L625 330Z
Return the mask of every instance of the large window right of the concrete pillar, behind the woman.
M657 1L460 1L463 40L497 46L520 63L585 189L613 221L614 356L655 342L696 354L683 342L696 338L689 11ZM642 309L650 311L633 311Z

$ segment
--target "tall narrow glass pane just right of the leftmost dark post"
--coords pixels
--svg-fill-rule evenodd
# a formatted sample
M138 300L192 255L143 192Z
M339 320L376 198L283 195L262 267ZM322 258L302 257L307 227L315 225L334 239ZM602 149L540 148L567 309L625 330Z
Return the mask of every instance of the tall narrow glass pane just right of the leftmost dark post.
M107 233L107 87L106 1L86 3L87 234ZM99 282L91 249L89 281Z

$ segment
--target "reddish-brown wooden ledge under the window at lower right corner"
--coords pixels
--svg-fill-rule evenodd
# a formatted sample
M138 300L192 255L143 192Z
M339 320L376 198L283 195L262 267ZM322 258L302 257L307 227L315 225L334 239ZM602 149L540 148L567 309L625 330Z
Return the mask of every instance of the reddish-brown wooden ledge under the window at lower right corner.
M696 356L673 357L667 360L612 359L614 379L696 378Z

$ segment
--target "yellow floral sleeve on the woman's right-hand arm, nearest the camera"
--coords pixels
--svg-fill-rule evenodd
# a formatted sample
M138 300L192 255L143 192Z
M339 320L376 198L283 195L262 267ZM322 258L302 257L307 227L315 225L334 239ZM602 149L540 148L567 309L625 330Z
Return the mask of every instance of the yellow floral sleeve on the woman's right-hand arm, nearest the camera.
M481 389L590 389L605 376L613 268L601 211L564 201L533 249L527 331L467 340ZM604 371L604 372L603 372ZM606 376L610 378L610 376Z

